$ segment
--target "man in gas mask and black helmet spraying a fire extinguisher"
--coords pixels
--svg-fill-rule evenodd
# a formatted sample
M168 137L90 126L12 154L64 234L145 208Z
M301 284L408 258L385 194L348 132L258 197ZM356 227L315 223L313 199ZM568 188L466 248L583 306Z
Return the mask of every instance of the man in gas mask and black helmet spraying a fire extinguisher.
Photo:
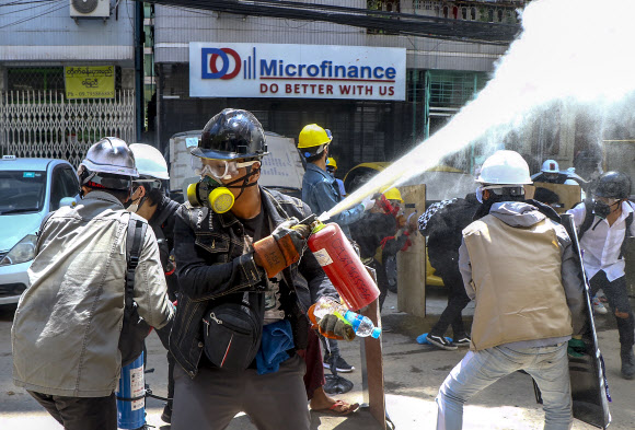
M178 306L170 350L172 428L224 429L240 411L258 429L309 429L296 353L307 346L307 310L336 291L303 253L311 214L302 201L258 186L267 155L250 112L224 109L192 151L200 181L176 216ZM334 327L334 333L345 327Z

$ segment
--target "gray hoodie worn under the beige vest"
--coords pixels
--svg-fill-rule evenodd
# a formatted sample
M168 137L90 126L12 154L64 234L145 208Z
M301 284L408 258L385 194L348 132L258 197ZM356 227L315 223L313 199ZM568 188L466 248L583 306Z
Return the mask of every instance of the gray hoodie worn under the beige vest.
M530 228L546 219L546 216L541 213L536 207L522 201L504 201L494 204L489 209L489 214L496 217L509 226L519 229ZM582 333L586 322L582 294L585 286L580 276L580 266L575 258L572 240L565 228L551 220L547 220L547 222L553 224L552 226L558 240L562 256L562 282L565 290L567 305L572 312L574 335L579 335ZM476 291L472 287L472 265L470 263L470 255L464 241L459 248L459 269L463 277L465 291L467 295L474 300ZM568 338L569 337L539 339L508 344L508 346L513 345L519 348L539 347L554 345L554 342L557 344L567 340Z

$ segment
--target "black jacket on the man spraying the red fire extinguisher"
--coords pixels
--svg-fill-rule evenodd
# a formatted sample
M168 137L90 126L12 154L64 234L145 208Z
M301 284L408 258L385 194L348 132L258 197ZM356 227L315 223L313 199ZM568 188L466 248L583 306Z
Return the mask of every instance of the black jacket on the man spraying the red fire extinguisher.
M288 218L304 219L311 209L302 201L261 187L262 205L275 228ZM239 301L234 292L263 291L264 270L256 266L253 252L245 253L244 226L231 212L215 213L208 208L181 206L174 226L176 275L180 298L170 336L170 351L189 374L196 376L203 353L201 319L210 305ZM333 284L309 251L298 264L282 270L289 291L280 302L293 327L296 349L307 345L307 310L322 295L337 298ZM261 301L257 306L264 306ZM255 309L263 314L264 309Z

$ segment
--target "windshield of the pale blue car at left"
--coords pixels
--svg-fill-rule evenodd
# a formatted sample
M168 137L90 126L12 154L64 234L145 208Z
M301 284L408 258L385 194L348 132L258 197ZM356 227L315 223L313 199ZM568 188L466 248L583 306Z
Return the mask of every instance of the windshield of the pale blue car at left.
M39 211L45 190L46 172L0 171L0 214Z

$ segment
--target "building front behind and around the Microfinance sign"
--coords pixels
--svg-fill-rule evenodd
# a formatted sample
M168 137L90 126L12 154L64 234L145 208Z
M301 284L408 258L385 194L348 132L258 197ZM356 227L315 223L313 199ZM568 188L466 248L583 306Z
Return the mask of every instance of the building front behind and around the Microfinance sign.
M369 8L458 20L516 23L522 1L362 1L325 4ZM357 163L390 161L407 152L446 124L484 86L506 46L386 34L342 24L236 15L201 10L153 8L153 57L157 83L158 142L164 148L176 132L200 129L224 107L252 111L270 131L297 139L307 124L334 135L340 172ZM500 13L499 13L500 12ZM463 18L464 16L464 18ZM219 48L231 44L392 47L405 50L405 95L399 101L190 94L190 45Z

